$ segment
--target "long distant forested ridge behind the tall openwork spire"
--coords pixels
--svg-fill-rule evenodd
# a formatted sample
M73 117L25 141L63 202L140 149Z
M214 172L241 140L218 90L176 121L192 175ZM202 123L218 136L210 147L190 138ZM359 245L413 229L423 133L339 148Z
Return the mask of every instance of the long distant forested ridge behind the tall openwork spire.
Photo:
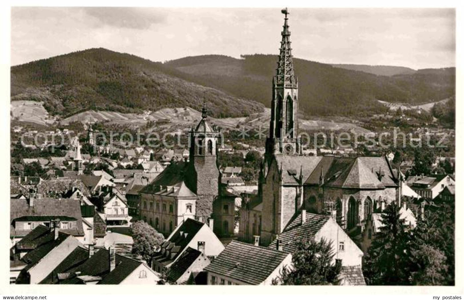
M193 82L269 106L277 56L255 54L242 58L204 55L164 65ZM387 111L376 100L423 104L455 94L455 68L378 76L303 59L294 59L294 65L300 109L307 115L369 115Z

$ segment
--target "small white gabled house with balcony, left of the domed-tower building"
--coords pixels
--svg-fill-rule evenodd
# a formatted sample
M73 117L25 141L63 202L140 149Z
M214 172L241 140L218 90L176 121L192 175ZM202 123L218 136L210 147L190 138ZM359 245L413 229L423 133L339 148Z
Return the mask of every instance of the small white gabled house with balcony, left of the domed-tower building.
M129 207L121 196L115 194L109 201L103 204L103 212L107 228L129 227L130 220Z

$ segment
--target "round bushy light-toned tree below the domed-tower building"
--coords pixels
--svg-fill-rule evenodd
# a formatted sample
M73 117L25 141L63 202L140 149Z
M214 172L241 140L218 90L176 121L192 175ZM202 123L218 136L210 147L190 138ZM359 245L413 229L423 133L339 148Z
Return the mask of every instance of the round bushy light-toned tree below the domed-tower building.
M164 241L163 235L144 221L132 223L130 232L134 239L132 253L142 255L145 261L151 261L153 254L158 251Z

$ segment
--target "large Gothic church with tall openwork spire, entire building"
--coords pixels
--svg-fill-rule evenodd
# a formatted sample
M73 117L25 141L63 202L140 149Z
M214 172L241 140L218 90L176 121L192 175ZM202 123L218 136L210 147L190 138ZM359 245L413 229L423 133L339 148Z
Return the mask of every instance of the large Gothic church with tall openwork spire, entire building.
M283 13L284 28L272 79L269 137L258 196L252 205L261 210L260 244L271 244L302 211L332 216L353 241L359 242L374 212L390 202L399 203L398 179L385 157L302 155L298 137L298 80L291 53L288 12ZM249 206L244 207L241 214L247 213ZM239 231L249 232L243 226L246 224L240 224Z

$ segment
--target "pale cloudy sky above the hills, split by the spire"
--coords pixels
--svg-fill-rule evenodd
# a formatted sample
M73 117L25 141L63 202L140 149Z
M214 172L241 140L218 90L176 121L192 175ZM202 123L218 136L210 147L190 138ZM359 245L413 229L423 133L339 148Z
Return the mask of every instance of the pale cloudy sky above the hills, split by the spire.
M454 9L289 7L294 57L330 64L455 66ZM12 7L11 65L103 47L152 61L277 54L277 8Z

